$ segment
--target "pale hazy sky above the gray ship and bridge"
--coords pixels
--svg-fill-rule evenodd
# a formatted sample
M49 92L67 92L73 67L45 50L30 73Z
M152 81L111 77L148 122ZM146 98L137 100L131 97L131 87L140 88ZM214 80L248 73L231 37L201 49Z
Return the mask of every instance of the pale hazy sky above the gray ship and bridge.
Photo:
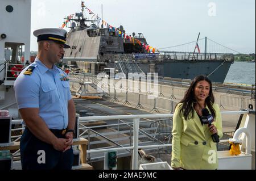
M160 50L195 41L200 32L200 39L207 36L237 52L255 53L255 0L85 0L100 17L101 5L106 22L122 25L128 35L143 33ZM32 0L31 50L38 48L34 30L60 27L64 16L75 12L81 12L80 0Z

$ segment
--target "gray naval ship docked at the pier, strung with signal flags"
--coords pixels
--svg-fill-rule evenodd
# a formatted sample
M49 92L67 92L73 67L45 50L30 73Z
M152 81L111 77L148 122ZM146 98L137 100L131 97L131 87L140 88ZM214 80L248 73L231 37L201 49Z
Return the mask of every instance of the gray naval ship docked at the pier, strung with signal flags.
M147 45L142 33L130 35L138 40L134 43L123 40L112 28L104 28L103 24L99 26L98 20L85 18L84 6L82 12L68 20L71 26L67 44L71 48L65 50L63 62L92 74L106 72L107 69L122 72L126 77L128 73L158 73L159 77L193 79L204 74L213 82L222 83L234 62L233 54L224 53L148 53L141 45ZM122 26L117 29L125 33Z

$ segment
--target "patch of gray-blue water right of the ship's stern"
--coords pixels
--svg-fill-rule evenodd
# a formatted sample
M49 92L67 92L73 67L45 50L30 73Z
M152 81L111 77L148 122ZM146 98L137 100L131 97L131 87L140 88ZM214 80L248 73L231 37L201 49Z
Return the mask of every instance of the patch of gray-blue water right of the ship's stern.
M224 82L255 84L255 62L234 62L230 66Z

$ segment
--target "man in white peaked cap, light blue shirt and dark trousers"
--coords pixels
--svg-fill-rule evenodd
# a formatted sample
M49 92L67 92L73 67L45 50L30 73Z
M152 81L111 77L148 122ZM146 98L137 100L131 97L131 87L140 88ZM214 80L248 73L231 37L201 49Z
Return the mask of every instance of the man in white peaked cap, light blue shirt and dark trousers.
M67 31L44 28L38 38L35 62L14 83L16 102L26 129L20 140L22 169L71 169L75 104L67 74L54 64L60 61Z

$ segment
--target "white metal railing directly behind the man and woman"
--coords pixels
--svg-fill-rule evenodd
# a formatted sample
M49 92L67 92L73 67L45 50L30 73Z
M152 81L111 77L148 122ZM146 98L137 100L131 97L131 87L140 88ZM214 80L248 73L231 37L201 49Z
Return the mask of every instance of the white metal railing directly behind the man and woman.
M249 111L225 111L225 112L221 112L222 115L241 115L241 114L248 114ZM91 121L94 121L94 122L97 122L97 121L107 121L107 120L123 120L123 119L130 119L130 120L133 120L131 121L130 123L120 123L119 125L131 125L133 128L133 144L130 145L130 146L122 146L122 145L118 145L120 146L121 148L113 148L113 146L110 146L111 148L99 148L99 149L89 149L89 145L88 145L88 150L87 150L87 153L88 154L92 154L92 153L102 153L102 152L105 152L105 151L113 151L113 150L133 150L133 154L132 154L132 158L133 158L133 166L132 166L132 169L134 170L137 170L138 169L138 151L135 151L135 150L138 150L138 149L147 149L147 148L165 148L165 147L170 147L172 146L172 144L156 144L156 145L139 145L139 133L140 133L140 124L143 124L145 123L146 121L141 121L141 119L164 119L166 120L166 118L168 118L167 120L170 120L172 119L172 114L155 114L155 115L118 115L118 116L93 116L93 117L79 117L79 123L88 123L88 122L91 122ZM162 120L162 121L164 121ZM154 120L152 120L154 121ZM22 120L13 120L12 121L12 124L21 124L22 123ZM171 122L169 121L164 121L162 123L158 122L158 123L152 123L152 124L156 124L156 128L157 129L162 129L162 132L159 132L158 134L155 134L155 138L159 138L159 141L160 140L160 137L159 136L162 136L164 135L165 132L169 132L171 130L171 127L172 127L172 124L170 124ZM162 124L162 125L161 125ZM112 126L117 126L118 124L114 124ZM164 125L167 125L167 127L163 127ZM86 127L83 125L83 128L82 129L86 129L86 131L88 130L92 130L93 128L97 128L97 127L110 127L111 125L101 125L101 126L96 126L96 127ZM155 127L155 126L154 126ZM16 129L12 129L12 131L22 131L24 128L16 128ZM80 127L81 129L81 127ZM86 132L85 131L85 132ZM149 130L150 131L150 130ZM154 132L154 130L153 130ZM94 134L96 134L96 136L99 136L99 133L95 132L94 131ZM233 133L230 133L230 135L228 133L226 133L226 137L225 137L225 134L224 134L224 139L227 139L229 137L232 137L233 136ZM18 141L20 139L20 136L21 135L16 135L16 136L12 136L12 140L15 140L15 141ZM104 136L104 135L101 135L101 136ZM105 137L105 136L104 136ZM170 135L171 137L171 135ZM164 135L164 139L169 139L168 142L170 142L171 138L168 137L167 134ZM109 140L109 139L108 139ZM224 142L228 142L228 140L221 140L220 141L220 144L221 143L224 143ZM17 154L19 153L19 150L16 151L14 154Z

